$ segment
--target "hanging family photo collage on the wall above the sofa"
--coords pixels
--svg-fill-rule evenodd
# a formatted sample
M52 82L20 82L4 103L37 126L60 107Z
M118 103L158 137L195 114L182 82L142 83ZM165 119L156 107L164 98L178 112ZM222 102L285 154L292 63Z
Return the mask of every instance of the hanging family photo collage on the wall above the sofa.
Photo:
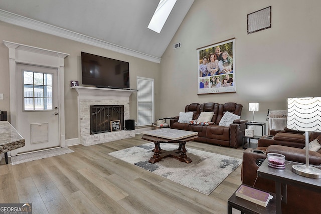
M198 94L236 92L234 54L235 38L197 49Z

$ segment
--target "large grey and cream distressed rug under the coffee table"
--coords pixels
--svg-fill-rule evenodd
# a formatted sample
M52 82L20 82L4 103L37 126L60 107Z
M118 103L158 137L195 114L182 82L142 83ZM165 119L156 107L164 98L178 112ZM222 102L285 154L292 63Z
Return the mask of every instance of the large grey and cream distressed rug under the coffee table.
M161 144L164 150L175 150L178 145ZM154 143L115 151L109 155L139 166L176 183L209 195L241 163L239 158L187 148L187 155L193 162L185 163L166 157L156 163L148 160L154 154Z

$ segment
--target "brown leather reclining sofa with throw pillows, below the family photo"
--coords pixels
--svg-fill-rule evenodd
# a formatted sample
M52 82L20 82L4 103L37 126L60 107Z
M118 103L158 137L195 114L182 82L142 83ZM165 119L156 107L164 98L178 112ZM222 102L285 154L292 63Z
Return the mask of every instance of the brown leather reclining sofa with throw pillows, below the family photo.
M192 103L185 107L185 112L193 112L193 120L196 120L201 112L214 112L211 125L192 125L179 123L179 116L170 121L170 128L198 132L200 142L237 148L242 145L242 136L246 128L247 120L234 120L230 126L219 126L225 112L241 115L243 106L236 103Z

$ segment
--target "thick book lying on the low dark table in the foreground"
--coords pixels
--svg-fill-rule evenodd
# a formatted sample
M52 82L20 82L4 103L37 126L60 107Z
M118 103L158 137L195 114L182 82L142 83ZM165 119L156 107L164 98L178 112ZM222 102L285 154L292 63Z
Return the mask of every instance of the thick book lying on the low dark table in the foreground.
M264 192L246 185L240 185L240 187L236 190L235 195L264 207L266 207L269 200L273 198L273 196L268 192Z

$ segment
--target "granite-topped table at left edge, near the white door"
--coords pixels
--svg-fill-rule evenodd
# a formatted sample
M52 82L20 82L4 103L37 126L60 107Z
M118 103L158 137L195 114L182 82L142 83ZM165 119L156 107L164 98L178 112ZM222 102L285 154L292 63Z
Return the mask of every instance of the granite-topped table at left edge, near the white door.
M8 164L8 151L25 146L25 139L8 122L0 121L0 153L5 152L6 164Z

